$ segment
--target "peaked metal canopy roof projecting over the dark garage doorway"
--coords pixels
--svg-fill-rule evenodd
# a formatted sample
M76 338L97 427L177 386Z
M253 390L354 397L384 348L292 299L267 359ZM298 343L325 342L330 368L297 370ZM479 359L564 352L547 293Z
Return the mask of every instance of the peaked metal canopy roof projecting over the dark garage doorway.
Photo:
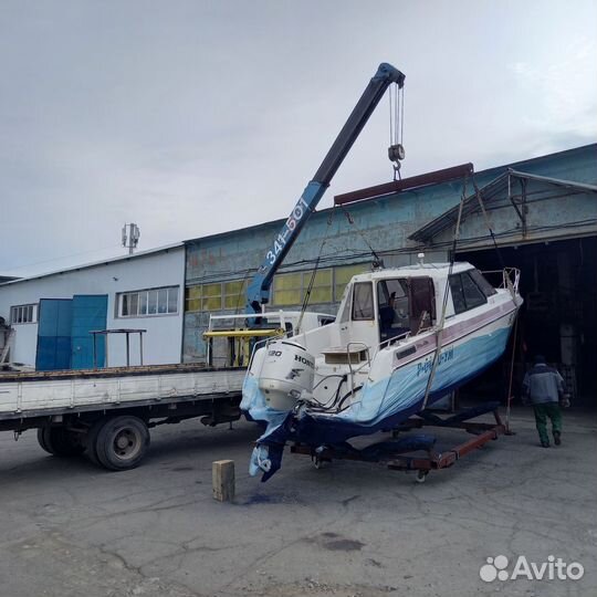
M522 172L520 170L507 169L498 178L494 178L491 182L479 189L479 193L483 199L485 208L495 200L503 198L503 193L505 192L507 199L510 199L514 209L519 211L519 206L516 205L514 198L511 196L510 192L513 178L517 180L534 180L556 187L563 187L572 190L573 192L597 192L596 185L587 185L585 182L575 182L573 180L563 180L559 178L551 178L547 176L540 176ZM422 228L419 228L419 230L410 234L410 237L408 238L417 242L429 242L433 237L436 237L443 230L455 227L459 209L460 205L457 205L448 211L444 211L441 216L439 216L434 220L431 220ZM481 206L476 197L476 192L473 192L472 195L467 197L467 199L464 199L464 205L462 206L462 220L478 211L481 211Z

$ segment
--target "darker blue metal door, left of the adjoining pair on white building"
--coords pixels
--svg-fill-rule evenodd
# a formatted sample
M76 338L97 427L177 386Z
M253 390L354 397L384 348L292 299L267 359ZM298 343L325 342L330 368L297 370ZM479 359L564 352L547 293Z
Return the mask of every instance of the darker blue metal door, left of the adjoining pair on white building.
M35 355L35 369L39 371L71 367L72 303L70 298L40 300Z

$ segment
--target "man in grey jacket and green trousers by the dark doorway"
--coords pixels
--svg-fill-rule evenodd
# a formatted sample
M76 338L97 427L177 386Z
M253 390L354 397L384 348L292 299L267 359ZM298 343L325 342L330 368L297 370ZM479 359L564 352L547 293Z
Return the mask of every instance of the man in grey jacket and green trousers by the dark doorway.
M535 423L541 444L549 448L547 417L552 421L554 443L562 443L562 411L559 399L564 397L564 379L557 369L548 367L543 355L535 356L535 365L526 373L523 380L523 401L533 405Z

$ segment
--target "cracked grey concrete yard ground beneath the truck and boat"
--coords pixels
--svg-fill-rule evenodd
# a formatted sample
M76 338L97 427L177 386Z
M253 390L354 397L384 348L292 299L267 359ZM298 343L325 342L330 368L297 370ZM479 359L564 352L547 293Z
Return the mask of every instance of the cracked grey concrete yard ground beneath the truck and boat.
M154 429L146 461L126 472L2 433L0 596L596 594L595 413L566 412L559 448L538 447L528 409L512 428L422 484L375 464L316 470L289 452L260 483L247 472L259 434L247 422ZM223 459L235 461L231 503L212 499L211 463ZM519 555L554 555L585 575L484 583L498 555L510 570Z

